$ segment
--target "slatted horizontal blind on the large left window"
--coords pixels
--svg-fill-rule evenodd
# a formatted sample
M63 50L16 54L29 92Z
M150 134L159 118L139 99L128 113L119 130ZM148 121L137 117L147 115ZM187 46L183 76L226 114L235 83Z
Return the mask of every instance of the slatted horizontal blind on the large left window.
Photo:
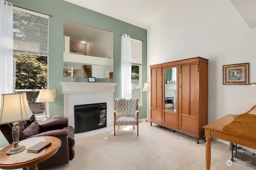
M49 16L13 8L13 52L48 56Z

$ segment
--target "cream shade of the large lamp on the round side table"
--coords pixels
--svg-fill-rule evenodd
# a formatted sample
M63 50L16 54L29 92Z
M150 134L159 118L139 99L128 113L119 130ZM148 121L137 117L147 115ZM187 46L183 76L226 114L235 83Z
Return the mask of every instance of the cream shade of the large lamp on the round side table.
M23 93L2 94L0 125L25 121L33 115L28 106L27 95Z

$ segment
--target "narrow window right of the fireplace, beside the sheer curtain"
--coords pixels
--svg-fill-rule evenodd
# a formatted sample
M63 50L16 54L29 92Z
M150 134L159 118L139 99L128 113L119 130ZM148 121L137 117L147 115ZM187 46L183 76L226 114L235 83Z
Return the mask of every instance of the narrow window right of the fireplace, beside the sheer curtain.
M139 99L139 103L142 103L142 84L141 72L142 72L142 41L131 38L132 49L132 98Z

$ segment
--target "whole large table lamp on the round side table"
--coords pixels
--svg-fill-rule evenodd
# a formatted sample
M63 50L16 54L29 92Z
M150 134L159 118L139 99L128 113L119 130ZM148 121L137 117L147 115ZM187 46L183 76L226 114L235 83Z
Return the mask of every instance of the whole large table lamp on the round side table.
M28 106L27 95L23 93L2 94L2 106L0 110L0 125L12 123L12 139L14 147L7 150L7 154L16 154L26 149L18 145L20 137L19 121L30 119L33 115ZM14 123L13 123L14 122Z

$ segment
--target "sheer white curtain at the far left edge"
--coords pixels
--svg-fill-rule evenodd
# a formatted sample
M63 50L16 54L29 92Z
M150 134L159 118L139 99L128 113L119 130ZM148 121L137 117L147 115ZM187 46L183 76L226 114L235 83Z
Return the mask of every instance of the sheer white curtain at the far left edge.
M12 4L0 0L0 93L12 93L13 35ZM2 97L0 97L0 106Z

